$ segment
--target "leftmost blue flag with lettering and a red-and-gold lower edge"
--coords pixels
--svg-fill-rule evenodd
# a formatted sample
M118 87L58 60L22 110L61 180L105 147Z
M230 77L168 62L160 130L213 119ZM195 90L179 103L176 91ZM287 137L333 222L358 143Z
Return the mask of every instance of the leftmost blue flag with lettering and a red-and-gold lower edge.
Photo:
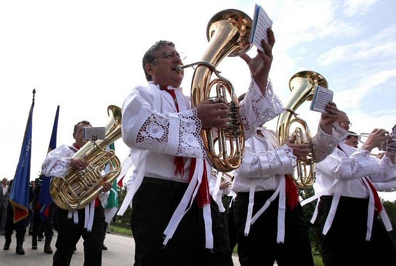
M24 219L29 213L29 185L30 185L30 158L32 154L32 118L34 107L33 90L32 106L30 107L25 135L23 137L21 154L19 155L14 181L9 196L12 209L14 210L14 223Z

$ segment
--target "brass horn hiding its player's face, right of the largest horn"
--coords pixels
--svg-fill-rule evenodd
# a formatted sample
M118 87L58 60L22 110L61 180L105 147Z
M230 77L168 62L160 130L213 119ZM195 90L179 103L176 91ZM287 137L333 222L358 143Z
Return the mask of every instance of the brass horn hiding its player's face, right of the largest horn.
M280 145L285 144L292 137L289 135L293 128L292 124L297 123L297 127L292 133L297 136L296 144L309 144L312 148L308 125L303 119L297 117L296 110L303 102L312 101L315 88L318 85L324 88L328 87L326 79L314 71L301 71L290 78L289 88L292 96L285 106L286 111L278 119L278 141ZM299 188L305 189L315 181L315 163L315 152L313 150L307 161L297 160L297 174L293 176L293 179Z

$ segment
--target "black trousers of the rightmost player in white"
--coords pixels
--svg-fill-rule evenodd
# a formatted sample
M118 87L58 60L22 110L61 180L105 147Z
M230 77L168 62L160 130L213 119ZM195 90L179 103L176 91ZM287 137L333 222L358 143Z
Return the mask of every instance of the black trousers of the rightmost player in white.
M332 196L322 196L318 222L323 230ZM374 215L370 241L366 241L368 199L341 197L333 223L322 236L322 258L325 266L396 265L396 252L389 233Z

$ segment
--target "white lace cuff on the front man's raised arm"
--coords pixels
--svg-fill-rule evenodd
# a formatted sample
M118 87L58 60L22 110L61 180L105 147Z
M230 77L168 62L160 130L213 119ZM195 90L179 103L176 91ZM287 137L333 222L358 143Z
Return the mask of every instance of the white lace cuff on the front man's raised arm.
M284 112L279 98L275 95L272 83L268 79L265 95L251 78L250 86L241 102L240 116L244 125L245 138L248 139L255 134L256 127Z

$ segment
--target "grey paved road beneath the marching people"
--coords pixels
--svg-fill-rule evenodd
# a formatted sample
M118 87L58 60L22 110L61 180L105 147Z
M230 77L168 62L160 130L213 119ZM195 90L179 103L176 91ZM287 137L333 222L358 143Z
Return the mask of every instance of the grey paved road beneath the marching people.
M56 231L52 239L52 250L55 251ZM12 235L10 249L3 250L4 236L0 236L0 266L50 266L52 265L52 254L44 253L44 241L37 242L38 249L32 250L32 236L27 235L23 243L25 255L15 254L16 239ZM107 234L105 244L108 250L102 253L103 266L133 266L135 242L133 238ZM235 266L240 266L238 257L233 256ZM77 251L74 252L71 260L71 266L82 266L84 263L84 246L83 239L77 244Z

